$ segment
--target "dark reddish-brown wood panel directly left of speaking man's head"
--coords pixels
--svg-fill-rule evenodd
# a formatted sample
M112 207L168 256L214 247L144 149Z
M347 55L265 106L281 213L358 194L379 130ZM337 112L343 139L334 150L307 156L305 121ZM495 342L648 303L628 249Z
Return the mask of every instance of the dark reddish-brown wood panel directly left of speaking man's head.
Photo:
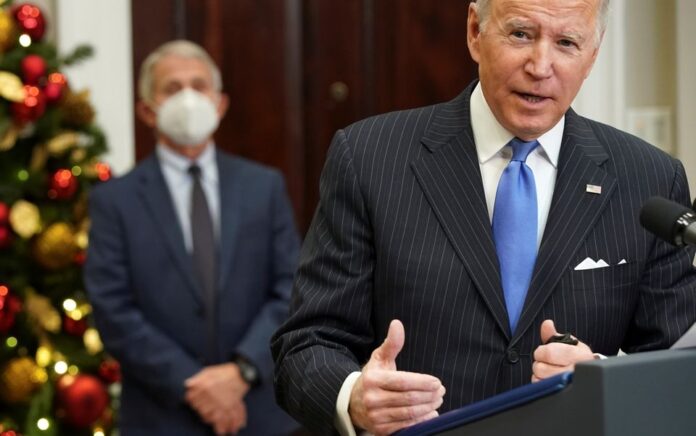
M466 45L468 1L374 4L378 112L452 99L477 76Z

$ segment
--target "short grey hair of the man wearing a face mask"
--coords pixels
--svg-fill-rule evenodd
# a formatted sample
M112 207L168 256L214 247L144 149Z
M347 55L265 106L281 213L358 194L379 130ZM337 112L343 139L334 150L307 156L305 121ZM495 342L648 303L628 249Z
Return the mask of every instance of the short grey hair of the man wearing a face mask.
M154 83L152 83L152 70L154 70L157 62L162 60L162 58L165 56L170 55L180 56L187 59L198 59L203 62L208 67L210 74L213 77L213 88L218 92L222 91L222 75L220 74L220 69L210 57L208 52L194 42L184 39L177 39L157 47L155 51L150 53L145 58L140 66L138 94L143 101L152 103L152 95L154 91L152 88L154 85Z

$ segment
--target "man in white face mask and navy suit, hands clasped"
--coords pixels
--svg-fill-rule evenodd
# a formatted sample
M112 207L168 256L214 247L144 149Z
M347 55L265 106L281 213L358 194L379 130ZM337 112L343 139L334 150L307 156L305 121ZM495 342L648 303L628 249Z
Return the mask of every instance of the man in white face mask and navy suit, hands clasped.
M289 434L268 341L299 238L282 176L215 148L228 106L208 54L173 41L143 62L153 156L95 189L85 283L121 363L124 436Z

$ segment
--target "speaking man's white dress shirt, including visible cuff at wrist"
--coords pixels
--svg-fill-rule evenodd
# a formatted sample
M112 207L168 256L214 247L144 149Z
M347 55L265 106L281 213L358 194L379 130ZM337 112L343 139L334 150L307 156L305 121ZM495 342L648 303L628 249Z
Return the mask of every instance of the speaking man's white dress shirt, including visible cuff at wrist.
M491 112L480 83L476 85L474 92L471 94L470 104L471 127L481 168L488 216L492 223L498 181L512 158L512 147L508 145L508 142L514 138L514 135L508 132ZM535 148L527 156L526 162L534 173L537 191L537 248L541 245L541 237L544 234L546 219L551 207L564 126L565 116L561 117L560 121L551 130L537 138L539 147ZM360 372L353 372L346 377L336 400L334 424L343 436L355 436L356 434L355 427L350 420L348 406L350 404L350 394L359 375Z

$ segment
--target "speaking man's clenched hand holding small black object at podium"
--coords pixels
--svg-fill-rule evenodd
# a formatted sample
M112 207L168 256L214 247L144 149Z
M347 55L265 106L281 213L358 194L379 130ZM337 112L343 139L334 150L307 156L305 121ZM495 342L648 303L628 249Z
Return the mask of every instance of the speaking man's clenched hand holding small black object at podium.
M582 342L578 342L577 345L561 344L558 342L547 344L549 339L557 334L559 333L556 331L556 327L552 320L547 319L541 323L542 345L534 350L534 363L532 364L533 382L543 380L562 372L573 371L575 370L576 363L595 358L590 347Z

